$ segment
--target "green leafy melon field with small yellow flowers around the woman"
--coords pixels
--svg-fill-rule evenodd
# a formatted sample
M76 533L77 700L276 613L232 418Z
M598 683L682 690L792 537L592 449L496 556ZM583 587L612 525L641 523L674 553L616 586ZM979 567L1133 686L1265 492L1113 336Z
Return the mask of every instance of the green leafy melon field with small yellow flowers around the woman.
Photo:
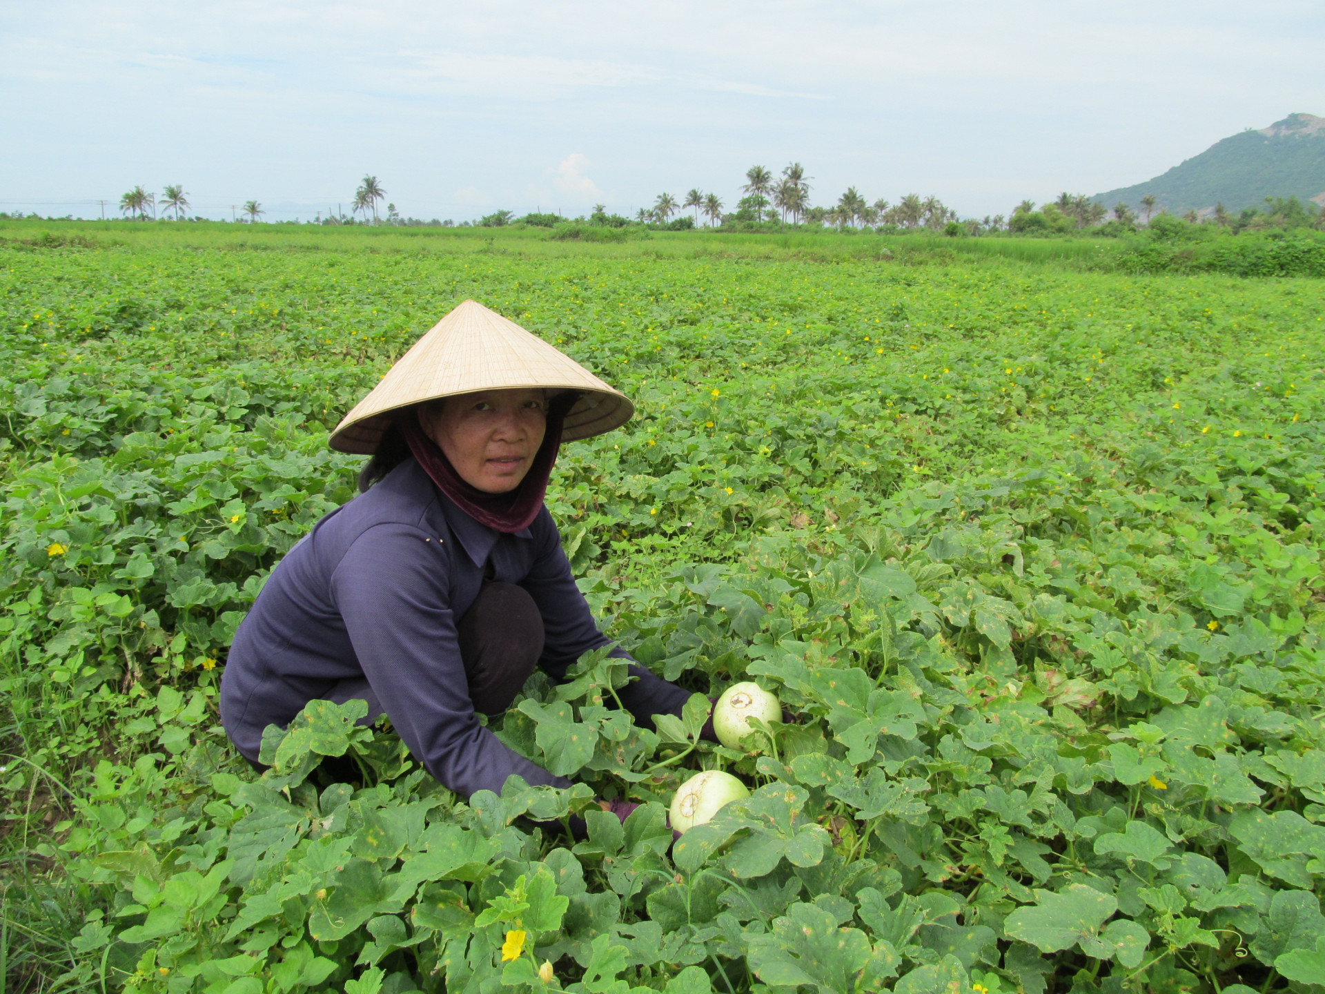
M0 227L4 994L1325 990L1325 282L111 228ZM640 729L591 655L490 722L567 791L355 702L229 746L329 429L466 298L637 404L549 492L604 631L794 722ZM700 770L750 797L673 844Z

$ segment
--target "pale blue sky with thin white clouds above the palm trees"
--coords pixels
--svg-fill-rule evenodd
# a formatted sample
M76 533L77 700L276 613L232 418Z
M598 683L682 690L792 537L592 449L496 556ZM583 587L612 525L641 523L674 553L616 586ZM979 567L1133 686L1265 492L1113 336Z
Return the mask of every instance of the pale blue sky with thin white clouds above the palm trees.
M1320 3L42 0L0 5L0 209L633 212L806 166L963 216L1325 114Z

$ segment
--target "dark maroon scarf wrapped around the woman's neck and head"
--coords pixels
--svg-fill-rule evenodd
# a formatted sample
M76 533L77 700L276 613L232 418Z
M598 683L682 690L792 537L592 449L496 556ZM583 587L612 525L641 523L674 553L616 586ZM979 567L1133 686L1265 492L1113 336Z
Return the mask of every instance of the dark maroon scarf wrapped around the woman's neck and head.
M511 534L529 527L543 508L543 494L547 493L547 478L551 476L553 464L556 463L556 452L562 445L562 424L566 412L579 399L574 391L567 391L554 398L547 404L547 429L543 432L543 444L534 453L534 461L519 481L519 486L507 493L488 493L472 486L450 465L450 460L429 439L419 419L413 412L403 417L398 428L409 445L419 465L432 477L444 494L456 506L472 517L480 525L486 525L497 531Z

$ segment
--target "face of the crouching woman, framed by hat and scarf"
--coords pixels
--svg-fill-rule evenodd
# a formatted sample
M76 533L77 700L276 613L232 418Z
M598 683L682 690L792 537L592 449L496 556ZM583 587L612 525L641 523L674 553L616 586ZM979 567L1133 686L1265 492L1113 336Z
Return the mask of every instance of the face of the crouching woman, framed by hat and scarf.
M547 402L542 390L485 390L420 408L419 425L466 484L507 493L543 444Z

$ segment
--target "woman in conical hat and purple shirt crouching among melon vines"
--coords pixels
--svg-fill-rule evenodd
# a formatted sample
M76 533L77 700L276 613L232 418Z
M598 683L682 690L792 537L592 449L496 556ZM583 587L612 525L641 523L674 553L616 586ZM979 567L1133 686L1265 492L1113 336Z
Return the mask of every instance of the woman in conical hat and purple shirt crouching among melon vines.
M476 713L504 712L535 665L560 680L608 643L543 493L562 441L632 414L482 305L443 318L331 435L333 448L372 456L362 493L285 555L235 636L221 722L240 753L258 765L262 730L311 700L362 698L364 722L386 713L428 773L466 798L501 793L510 774L570 786ZM631 675L619 697L639 724L680 716L688 690L640 665ZM612 806L623 818L633 807Z

